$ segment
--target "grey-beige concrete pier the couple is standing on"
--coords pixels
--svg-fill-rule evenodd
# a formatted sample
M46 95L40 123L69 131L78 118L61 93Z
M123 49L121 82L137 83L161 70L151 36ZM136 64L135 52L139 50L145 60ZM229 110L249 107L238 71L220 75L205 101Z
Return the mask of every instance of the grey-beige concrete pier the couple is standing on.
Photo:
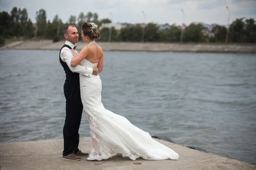
M102 161L62 159L63 139L0 144L0 170L255 170L256 165L193 150L155 139L180 155L179 160L135 161L122 156ZM80 139L79 149L90 151L90 137Z

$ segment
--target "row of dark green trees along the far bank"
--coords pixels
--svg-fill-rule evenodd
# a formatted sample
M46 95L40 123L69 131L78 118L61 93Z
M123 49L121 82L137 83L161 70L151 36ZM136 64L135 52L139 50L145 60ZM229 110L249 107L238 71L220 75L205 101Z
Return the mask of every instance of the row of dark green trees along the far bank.
M68 24L73 24L78 28L79 34L84 22L94 22L99 27L103 23L111 23L111 20L104 18L99 20L97 13L81 12L78 17L71 15L66 23L55 15L52 22L47 20L46 11L40 9L36 12L36 23L33 25L26 8L12 8L10 14L6 11L0 12L0 44L4 44L6 39L52 39L57 42L63 37L63 28ZM227 27L216 25L211 29L214 36L205 34L206 27L202 23L191 23L183 30L182 42L225 42ZM110 34L111 31L111 34ZM148 23L145 28L141 25L126 26L121 30L114 27L102 28L100 41L123 41L141 42L144 31L144 42L180 42L181 26L173 24L167 29L160 29L156 23ZM234 20L228 30L229 42L256 42L256 20L244 17ZM79 36L81 39L81 36Z

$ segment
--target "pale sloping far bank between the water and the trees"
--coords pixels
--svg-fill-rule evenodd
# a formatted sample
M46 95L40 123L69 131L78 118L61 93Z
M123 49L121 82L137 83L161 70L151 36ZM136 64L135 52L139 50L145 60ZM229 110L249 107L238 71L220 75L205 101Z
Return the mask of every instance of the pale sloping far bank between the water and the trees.
M15 50L60 50L65 40L26 40L13 41L0 49ZM181 53L244 53L256 54L256 44L250 43L168 43L168 42L97 42L103 51L134 51L134 52L181 52ZM81 50L85 42L77 42L77 50Z

